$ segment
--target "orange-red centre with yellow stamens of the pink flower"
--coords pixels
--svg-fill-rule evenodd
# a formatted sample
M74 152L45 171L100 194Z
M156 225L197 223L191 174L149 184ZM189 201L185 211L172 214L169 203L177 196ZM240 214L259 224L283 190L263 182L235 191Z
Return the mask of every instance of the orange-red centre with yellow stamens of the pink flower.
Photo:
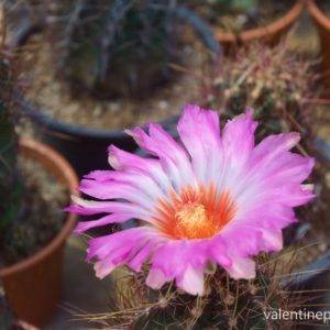
M187 187L180 194L172 193L170 200L160 200L157 208L160 230L173 239L207 239L217 234L235 213L228 191L217 193L211 185Z

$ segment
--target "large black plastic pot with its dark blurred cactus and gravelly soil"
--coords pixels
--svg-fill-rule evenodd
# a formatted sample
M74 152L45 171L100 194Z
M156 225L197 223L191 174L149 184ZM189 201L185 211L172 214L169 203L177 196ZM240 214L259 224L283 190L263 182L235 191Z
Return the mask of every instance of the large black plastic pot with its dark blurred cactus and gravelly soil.
M35 70L23 110L79 174L106 166L98 157L85 157L86 153L100 154L112 142L131 151L136 147L122 134L123 128L151 118L166 121L173 109L180 108L186 97L182 85L193 90L194 84L170 67L197 65L199 52L191 48L191 41L218 52L207 25L175 2L48 2L38 43L44 47L38 59L26 65L26 72ZM44 74L33 76L40 69Z

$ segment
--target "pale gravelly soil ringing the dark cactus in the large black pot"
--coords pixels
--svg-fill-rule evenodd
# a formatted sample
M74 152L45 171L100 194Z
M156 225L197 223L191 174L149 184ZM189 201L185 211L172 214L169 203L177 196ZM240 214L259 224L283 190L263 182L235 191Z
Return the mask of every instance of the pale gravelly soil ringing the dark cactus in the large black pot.
M21 77L28 99L41 111L57 120L75 125L122 130L151 121L162 121L180 112L184 105L194 101L196 95L196 73L209 59L205 46L196 42L185 46L183 66L173 81L151 91L143 100L118 98L100 100L89 95L73 98L69 88L56 77L53 67L52 47L42 35L34 36L24 52L25 73ZM177 70L177 68L176 68Z

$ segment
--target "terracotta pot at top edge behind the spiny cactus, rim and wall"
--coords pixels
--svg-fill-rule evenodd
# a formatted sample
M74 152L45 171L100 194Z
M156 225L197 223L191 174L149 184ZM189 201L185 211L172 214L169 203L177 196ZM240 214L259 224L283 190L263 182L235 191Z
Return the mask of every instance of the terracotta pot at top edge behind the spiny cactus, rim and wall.
M215 35L227 52L233 46L253 41L264 41L271 45L275 45L295 23L302 9L304 1L298 0L286 14L268 25L245 30L240 34L224 32L221 29L216 28Z

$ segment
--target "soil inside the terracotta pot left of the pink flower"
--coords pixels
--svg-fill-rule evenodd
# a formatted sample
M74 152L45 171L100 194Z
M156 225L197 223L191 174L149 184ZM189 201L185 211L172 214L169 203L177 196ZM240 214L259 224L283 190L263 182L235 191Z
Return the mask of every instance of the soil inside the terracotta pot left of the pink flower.
M40 163L19 157L24 183L21 217L6 231L0 246L0 267L12 265L40 251L63 227L69 194L66 186Z

